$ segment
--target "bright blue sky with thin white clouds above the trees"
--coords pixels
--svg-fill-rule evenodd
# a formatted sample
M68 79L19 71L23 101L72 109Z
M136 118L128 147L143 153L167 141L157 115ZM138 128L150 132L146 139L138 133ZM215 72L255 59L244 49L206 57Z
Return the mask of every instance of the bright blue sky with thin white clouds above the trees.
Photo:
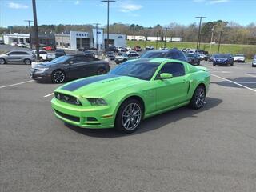
M38 25L88 24L106 25L106 3L100 0L36 0ZM122 22L142 26L188 25L204 20L256 22L256 0L116 0L110 6L110 23ZM31 0L0 0L0 26L26 25L33 19Z

